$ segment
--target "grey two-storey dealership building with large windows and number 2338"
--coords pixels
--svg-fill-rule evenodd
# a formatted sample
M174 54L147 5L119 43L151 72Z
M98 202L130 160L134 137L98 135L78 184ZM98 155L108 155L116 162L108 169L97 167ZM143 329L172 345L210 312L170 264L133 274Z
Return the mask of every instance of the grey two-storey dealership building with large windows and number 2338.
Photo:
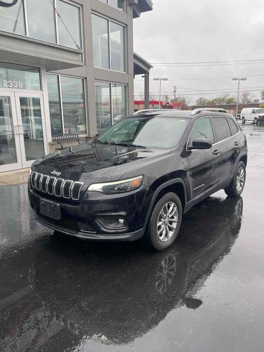
M6 0L6 3L11 3ZM150 0L17 0L0 7L0 172L48 154L52 136L96 133L134 111L133 18Z

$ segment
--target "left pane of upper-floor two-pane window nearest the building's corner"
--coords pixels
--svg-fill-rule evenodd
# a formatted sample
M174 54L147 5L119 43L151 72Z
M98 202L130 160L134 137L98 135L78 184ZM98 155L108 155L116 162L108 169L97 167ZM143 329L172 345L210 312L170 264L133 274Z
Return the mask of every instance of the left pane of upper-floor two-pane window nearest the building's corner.
M105 18L92 15L92 24L94 66L110 68L108 21Z

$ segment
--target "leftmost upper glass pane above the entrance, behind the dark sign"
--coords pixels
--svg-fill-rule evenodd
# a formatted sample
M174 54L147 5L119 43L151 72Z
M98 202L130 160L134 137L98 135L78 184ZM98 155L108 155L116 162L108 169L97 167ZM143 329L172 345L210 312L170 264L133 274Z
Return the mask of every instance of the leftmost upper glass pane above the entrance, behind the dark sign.
M23 1L19 0L11 7L1 7L0 29L25 35Z

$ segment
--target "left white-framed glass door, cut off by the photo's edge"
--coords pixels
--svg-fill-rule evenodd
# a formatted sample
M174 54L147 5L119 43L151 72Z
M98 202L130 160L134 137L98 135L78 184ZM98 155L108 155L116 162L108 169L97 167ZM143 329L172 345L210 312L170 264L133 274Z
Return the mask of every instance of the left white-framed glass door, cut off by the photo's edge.
M0 91L0 172L21 167L15 95Z

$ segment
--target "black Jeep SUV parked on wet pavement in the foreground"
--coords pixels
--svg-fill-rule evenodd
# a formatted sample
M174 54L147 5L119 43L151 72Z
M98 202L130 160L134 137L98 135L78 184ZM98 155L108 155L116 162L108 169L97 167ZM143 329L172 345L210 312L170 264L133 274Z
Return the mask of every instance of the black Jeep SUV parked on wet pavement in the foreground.
M97 240L143 237L162 251L193 205L222 188L242 193L246 164L245 134L229 114L142 113L37 159L28 193L36 220L55 231Z

